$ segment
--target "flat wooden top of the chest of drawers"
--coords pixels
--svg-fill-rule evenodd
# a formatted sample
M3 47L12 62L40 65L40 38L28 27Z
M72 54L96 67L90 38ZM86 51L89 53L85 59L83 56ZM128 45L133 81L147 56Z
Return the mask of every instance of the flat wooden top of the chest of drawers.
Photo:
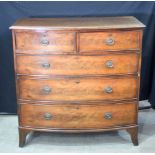
M123 29L145 27L133 16L122 17L71 17L25 18L18 20L10 29Z

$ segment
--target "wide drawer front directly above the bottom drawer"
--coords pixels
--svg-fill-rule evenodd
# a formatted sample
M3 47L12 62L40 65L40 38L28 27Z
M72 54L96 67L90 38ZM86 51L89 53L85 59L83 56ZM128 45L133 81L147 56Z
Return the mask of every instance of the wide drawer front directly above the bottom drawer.
M18 79L19 98L26 100L121 100L137 97L137 79Z

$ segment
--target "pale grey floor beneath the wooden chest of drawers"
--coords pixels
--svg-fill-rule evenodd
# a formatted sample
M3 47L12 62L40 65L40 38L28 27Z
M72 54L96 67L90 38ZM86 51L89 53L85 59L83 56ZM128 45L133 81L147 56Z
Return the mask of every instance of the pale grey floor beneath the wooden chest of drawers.
M142 101L140 105L148 105ZM139 146L133 146L125 131L93 134L34 133L28 144L18 147L17 116L0 116L0 153L5 152L155 152L155 110L139 112Z

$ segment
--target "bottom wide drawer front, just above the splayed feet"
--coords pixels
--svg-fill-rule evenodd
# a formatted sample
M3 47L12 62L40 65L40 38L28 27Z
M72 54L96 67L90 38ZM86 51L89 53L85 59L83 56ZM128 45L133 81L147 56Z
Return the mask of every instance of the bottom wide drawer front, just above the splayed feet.
M106 105L20 105L20 124L40 128L108 128L135 124L135 103Z

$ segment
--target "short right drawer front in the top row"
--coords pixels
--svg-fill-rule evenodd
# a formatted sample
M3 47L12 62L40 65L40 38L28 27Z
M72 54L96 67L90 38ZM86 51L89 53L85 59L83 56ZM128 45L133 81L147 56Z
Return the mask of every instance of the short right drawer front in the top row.
M80 52L140 49L139 31L80 33Z

